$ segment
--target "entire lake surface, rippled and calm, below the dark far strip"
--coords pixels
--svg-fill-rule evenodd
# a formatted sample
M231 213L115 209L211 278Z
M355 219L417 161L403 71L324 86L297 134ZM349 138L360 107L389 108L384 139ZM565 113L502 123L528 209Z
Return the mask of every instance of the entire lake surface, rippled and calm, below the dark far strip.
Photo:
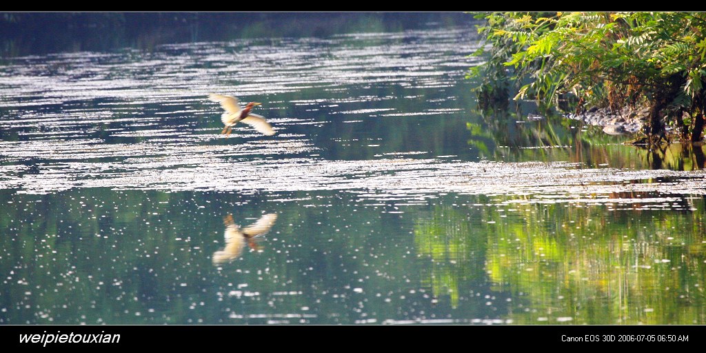
M0 323L706 323L705 148L480 111L473 23L405 16L6 57Z

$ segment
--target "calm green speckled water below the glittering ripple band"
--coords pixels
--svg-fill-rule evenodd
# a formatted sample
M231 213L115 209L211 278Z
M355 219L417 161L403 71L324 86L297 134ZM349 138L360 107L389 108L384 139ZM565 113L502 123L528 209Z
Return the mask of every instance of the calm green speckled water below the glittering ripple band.
M2 191L0 319L706 323L703 198L609 197L395 207L335 192ZM213 266L222 215L270 212L261 252Z

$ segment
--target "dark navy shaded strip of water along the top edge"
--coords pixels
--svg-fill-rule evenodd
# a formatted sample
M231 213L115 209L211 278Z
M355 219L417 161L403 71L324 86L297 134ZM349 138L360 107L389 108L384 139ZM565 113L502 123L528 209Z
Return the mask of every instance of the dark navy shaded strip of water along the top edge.
M107 52L125 47L265 37L331 37L465 25L464 13L391 12L59 12L0 13L0 57Z

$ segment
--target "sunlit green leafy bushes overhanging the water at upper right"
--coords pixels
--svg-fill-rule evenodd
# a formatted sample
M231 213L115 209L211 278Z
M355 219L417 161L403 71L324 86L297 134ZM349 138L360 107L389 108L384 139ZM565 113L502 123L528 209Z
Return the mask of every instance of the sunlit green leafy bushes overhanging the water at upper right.
M633 112L644 136L702 143L706 110L706 13L477 13L486 62L477 78L481 109L537 100L565 114ZM605 114L609 115L609 114ZM612 118L611 118L612 119Z

